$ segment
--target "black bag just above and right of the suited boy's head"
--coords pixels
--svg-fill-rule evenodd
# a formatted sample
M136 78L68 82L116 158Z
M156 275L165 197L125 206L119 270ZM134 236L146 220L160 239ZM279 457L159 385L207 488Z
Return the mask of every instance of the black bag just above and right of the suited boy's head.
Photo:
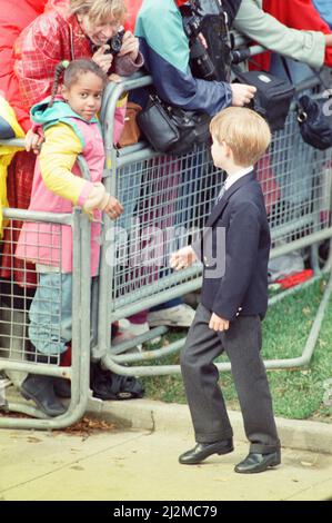
M249 107L265 118L271 131L283 129L295 90L292 83L265 71L240 71L234 68L234 72L241 83L256 88Z

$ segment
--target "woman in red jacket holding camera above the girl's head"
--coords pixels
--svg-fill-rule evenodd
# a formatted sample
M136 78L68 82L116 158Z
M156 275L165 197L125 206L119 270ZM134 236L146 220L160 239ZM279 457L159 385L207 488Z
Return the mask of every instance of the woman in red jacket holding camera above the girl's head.
M117 55L109 40L125 20L123 0L70 0L69 10L38 17L16 43L14 71L26 111L51 91L54 68L61 60L92 58L103 71L130 76L143 61L139 42L129 31Z

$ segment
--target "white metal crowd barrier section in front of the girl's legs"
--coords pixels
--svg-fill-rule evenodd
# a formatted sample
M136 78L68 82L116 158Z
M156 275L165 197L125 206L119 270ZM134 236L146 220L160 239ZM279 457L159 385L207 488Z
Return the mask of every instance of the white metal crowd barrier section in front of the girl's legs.
M16 140L16 144L18 141ZM13 145L7 141L7 145ZM20 145L20 144L19 144ZM83 160L80 160L83 176L88 177L89 171ZM89 373L90 373L90 223L88 216L81 214L80 209L74 209L71 215L52 214L41 211L27 211L20 209L3 209L3 216L11 223L11 237L7 238L7 244L12 243L10 254L1 256L0 263L0 372L6 371L11 382L18 387L27 373L47 376L58 376L71 381L71 399L68 403L67 412L56 418L48 418L41 411L29 403L20 402L11 393L7 394L7 388L0 389L0 427L3 428L62 428L73 424L85 412L89 398ZM38 244L41 248L50 247L50 237L43 233L43 224L52 224L58 241L53 241L52 253L54 258L61 259L61 227L66 225L72 228L73 238L73 272L72 272L72 343L71 343L71 365L60 366L60 357L57 362L50 358L46 363L39 363L36 352L29 341L29 308L32 295L36 289L33 277L36 276L33 266L23 263L17 265L14 256L19 221L33 223L34 230L39 235ZM29 238L27 236L27 238ZM52 235L53 238L53 235ZM30 243L31 241L31 243ZM3 241L1 240L1 253ZM58 245L54 245L58 244ZM33 240L27 239L24 248L33 245ZM39 254L38 254L39 255ZM52 254L53 256L53 254ZM4 264L6 260L6 264ZM61 270L61 267L59 267ZM2 272L4 273L2 274ZM22 286L16 285L14 274L19 272L23 276ZM8 279L9 273L10 279ZM59 279L61 274L59 274ZM27 283L29 283L27 285ZM29 293L29 288L31 293ZM52 325L52 341L59 341L61 334L57 327L57 315L61 315L61 284L52 288L52 312L49 322ZM20 302L21 305L17 305ZM42 306L42 303L40 304ZM53 308L54 306L54 308ZM57 308L56 308L57 306ZM59 310L58 310L59 308ZM39 329L39 327L38 327ZM41 334L42 335L42 334ZM0 385L3 385L3 379ZM23 413L34 418L16 417L12 413ZM10 415L9 415L10 413Z

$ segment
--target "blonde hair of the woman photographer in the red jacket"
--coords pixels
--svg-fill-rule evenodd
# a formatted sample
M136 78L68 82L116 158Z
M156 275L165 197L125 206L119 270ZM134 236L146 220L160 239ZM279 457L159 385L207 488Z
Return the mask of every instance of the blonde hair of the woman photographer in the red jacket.
M124 0L70 0L72 14L89 14L94 23L103 23L109 18L114 18L120 24L127 18Z

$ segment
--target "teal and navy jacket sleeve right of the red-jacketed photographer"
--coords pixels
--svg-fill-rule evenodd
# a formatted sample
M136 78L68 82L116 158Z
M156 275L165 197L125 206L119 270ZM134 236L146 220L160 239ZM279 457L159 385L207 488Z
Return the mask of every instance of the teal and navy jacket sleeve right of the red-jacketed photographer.
M231 105L229 83L191 75L189 41L174 0L143 0L134 32L160 98L172 106L210 116Z

